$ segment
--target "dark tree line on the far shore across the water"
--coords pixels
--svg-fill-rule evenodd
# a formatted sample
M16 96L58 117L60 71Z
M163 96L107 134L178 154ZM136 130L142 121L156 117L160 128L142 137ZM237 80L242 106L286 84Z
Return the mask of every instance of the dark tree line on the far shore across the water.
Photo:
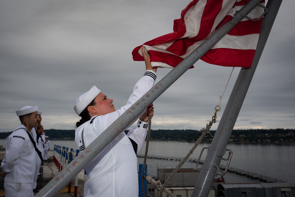
M44 130L50 140L74 140L75 130ZM128 131L125 131L127 133ZM214 136L216 131L210 131ZM11 132L0 133L0 139L6 139ZM150 140L158 141L197 141L201 136L199 130L151 130ZM211 142L213 137L207 134L202 142ZM233 130L230 142L235 143L294 143L295 129L246 129Z

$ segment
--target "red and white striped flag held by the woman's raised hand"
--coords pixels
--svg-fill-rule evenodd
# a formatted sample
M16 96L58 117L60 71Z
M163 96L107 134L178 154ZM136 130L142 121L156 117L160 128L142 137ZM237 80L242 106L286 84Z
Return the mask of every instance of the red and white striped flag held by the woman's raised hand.
M174 20L173 32L144 43L153 67L173 68L207 37L228 22L249 0L194 0ZM264 5L264 0L261 2ZM264 9L256 6L248 16L257 19ZM251 67L258 43L261 18L243 18L201 60L220 66ZM144 61L141 45L132 51L134 61Z

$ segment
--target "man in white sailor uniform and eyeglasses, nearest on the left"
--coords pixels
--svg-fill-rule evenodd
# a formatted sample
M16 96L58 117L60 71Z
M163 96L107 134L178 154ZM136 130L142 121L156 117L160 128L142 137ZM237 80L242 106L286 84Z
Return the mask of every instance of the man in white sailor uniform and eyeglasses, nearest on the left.
M38 106L25 106L16 114L21 124L6 138L6 154L1 163L5 196L34 196L37 150L31 130L40 121Z

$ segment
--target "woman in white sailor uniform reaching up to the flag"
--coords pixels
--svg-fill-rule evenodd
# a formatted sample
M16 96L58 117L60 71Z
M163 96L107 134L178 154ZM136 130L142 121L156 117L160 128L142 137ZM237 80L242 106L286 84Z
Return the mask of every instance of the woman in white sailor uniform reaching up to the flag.
M151 67L149 56L146 55L144 49L142 51L146 72L135 84L133 93L126 105L116 110L113 100L96 86L93 86L77 99L74 110L82 118L76 123L78 128L75 132L75 141L80 152L153 87L157 69ZM138 196L136 154L140 152L144 144L148 128L148 116L153 116L153 109L153 104L151 104L147 110L137 117L139 121L135 128L131 129L127 135L123 130L85 167L89 180L84 185L84 197Z

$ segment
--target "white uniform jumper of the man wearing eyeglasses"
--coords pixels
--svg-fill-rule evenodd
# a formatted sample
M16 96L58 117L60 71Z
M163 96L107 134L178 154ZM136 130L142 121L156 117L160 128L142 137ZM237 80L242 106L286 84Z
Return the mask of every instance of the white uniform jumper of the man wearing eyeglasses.
M1 163L2 170L7 173L4 178L5 196L34 196L33 180L38 155L27 132L27 128L20 124L6 138L6 154Z

